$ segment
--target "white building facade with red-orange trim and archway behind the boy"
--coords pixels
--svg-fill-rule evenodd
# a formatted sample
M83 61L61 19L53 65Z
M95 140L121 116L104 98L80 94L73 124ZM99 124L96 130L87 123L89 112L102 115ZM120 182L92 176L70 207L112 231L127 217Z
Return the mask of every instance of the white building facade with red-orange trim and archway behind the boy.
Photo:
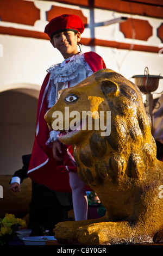
M84 22L82 52L95 51L107 68L131 81L146 66L163 75L161 0L0 0L1 175L13 174L21 156L32 153L41 84L49 66L63 60L43 31L66 13ZM160 80L153 97L162 90Z

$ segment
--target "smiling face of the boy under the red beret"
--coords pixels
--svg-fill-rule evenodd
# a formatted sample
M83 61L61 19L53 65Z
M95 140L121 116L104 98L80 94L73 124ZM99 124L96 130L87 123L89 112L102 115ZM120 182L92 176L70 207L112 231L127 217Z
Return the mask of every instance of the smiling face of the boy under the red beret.
M57 48L65 59L78 53L78 42L80 33L75 34L73 31L65 31L55 34L51 40L52 45Z

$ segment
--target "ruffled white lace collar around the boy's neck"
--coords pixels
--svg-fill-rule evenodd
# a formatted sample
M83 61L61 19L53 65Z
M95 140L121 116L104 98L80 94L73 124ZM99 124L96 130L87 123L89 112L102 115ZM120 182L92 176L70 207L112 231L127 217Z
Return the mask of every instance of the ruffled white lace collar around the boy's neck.
M66 63L68 60L70 61ZM67 82L76 78L80 68L85 65L84 54L79 53L65 59L62 63L52 65L47 72L51 74L50 79L54 80L54 83Z

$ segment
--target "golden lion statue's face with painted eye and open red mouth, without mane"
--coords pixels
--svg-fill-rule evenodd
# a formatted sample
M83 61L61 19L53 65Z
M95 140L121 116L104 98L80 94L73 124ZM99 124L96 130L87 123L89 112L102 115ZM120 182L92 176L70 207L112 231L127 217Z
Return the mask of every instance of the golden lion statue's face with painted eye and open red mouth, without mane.
M116 93L116 83L109 81L109 86L110 93ZM78 86L61 90L58 101L47 112L45 119L51 129L60 131L59 140L71 145L78 143L83 136L87 137L95 129L101 131L100 120L103 119L103 126L106 126L109 113L107 115L104 112L105 105L106 99L101 86L95 76L91 76Z

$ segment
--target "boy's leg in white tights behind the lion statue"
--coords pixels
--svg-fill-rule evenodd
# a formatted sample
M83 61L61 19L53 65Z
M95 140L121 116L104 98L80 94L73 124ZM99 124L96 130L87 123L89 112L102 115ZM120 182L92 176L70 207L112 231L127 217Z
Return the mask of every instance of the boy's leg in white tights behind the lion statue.
M76 221L87 220L87 196L85 184L77 172L69 172L74 217Z

